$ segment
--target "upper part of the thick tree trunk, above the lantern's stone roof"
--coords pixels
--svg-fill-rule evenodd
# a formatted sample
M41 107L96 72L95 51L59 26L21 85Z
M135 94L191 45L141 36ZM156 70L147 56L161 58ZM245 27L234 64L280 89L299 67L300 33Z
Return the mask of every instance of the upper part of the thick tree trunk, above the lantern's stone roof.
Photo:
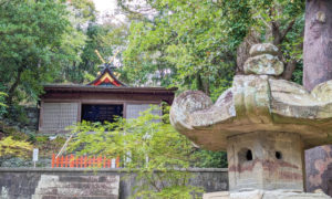
M303 50L303 85L332 80L332 1L307 0Z

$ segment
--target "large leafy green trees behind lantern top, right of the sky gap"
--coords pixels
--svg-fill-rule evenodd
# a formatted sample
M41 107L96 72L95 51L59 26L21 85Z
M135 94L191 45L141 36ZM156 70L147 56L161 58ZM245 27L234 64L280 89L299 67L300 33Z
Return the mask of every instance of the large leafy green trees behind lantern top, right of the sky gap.
M257 42L279 46L287 65L283 78L294 77L295 67L301 66L301 0L147 0L145 10L151 14L137 13L127 0L118 1L136 20L123 59L128 80L137 84L158 82L217 98L242 72Z

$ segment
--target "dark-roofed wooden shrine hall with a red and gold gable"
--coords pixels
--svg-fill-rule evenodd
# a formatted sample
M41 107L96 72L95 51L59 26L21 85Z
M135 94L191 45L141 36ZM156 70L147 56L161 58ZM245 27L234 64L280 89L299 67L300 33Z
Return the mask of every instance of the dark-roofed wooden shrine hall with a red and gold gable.
M114 69L104 63L100 75L87 85L44 85L39 132L64 134L68 126L77 122L113 122L114 116L136 118L151 105L172 104L177 88L127 86L117 80Z

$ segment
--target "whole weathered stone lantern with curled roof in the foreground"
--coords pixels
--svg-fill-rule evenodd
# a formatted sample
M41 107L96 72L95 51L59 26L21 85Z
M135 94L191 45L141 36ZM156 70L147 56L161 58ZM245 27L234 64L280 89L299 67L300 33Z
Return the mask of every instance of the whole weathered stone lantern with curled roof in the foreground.
M304 192L304 149L332 144L332 81L307 92L280 80L277 46L253 45L245 75L215 104L203 92L173 103L170 122L196 145L227 150L229 191L205 198L330 198Z

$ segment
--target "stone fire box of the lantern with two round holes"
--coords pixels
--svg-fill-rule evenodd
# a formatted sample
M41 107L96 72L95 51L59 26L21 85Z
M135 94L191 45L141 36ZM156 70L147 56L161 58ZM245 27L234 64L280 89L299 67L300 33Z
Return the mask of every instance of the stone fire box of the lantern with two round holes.
M230 191L303 191L303 145L299 134L256 132L227 138Z

